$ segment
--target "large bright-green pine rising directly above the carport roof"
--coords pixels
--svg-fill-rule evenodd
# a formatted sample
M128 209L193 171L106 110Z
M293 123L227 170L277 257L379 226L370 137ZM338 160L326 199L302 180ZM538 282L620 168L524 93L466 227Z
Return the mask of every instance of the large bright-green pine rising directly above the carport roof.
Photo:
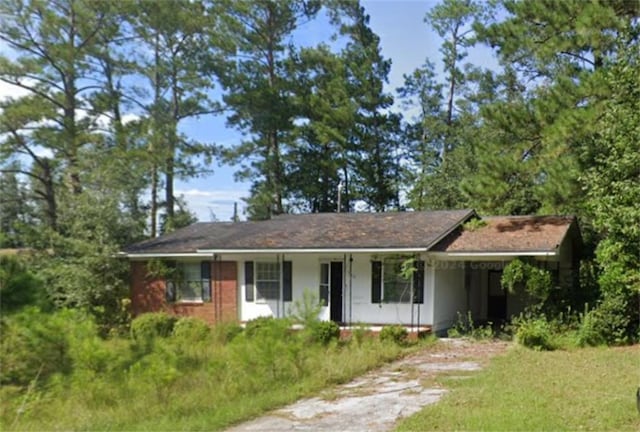
M583 156L608 97L603 69L640 8L579 0L503 4L507 19L477 27L498 50L508 97L483 110L491 135L467 182L477 193L469 195L484 209L575 213L584 197Z

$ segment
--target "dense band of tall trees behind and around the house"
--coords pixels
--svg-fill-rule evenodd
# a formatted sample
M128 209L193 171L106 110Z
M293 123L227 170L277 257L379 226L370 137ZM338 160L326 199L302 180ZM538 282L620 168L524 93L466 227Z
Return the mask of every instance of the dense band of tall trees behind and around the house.
M633 1L442 0L425 16L441 46L415 53L394 105L358 1L0 0L14 90L0 100L0 247L28 249L2 263L3 312L79 307L102 334L126 327L117 251L192 222L174 183L216 161L252 182L255 219L356 204L576 214L588 295L562 304L590 302L585 341L634 340L639 17ZM300 38L308 23L326 37ZM473 50L499 65L465 63ZM185 135L215 116L242 142Z

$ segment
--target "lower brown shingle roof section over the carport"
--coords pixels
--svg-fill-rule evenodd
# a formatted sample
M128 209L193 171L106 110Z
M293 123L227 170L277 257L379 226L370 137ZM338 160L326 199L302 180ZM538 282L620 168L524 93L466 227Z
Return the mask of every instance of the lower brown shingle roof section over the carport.
M458 229L438 243L436 252L552 252L575 221L573 216L494 216L486 225Z

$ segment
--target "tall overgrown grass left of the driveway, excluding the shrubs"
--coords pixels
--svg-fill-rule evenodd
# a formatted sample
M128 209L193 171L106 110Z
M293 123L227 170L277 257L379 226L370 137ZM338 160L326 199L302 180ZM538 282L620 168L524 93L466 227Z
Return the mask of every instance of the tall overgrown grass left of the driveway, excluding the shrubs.
M188 338L183 331L176 337L174 331L144 343L72 338L71 370L46 378L34 374L31 386L5 382L1 429L220 429L414 349L377 338L315 343L309 334L292 332L289 323L271 321L252 334L219 327L206 336L190 332L200 336Z

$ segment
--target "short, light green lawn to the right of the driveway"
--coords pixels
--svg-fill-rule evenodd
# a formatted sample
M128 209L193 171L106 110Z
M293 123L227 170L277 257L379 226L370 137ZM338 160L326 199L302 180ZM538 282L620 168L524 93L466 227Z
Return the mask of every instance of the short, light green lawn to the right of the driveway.
M640 346L540 352L514 347L400 431L640 430Z

